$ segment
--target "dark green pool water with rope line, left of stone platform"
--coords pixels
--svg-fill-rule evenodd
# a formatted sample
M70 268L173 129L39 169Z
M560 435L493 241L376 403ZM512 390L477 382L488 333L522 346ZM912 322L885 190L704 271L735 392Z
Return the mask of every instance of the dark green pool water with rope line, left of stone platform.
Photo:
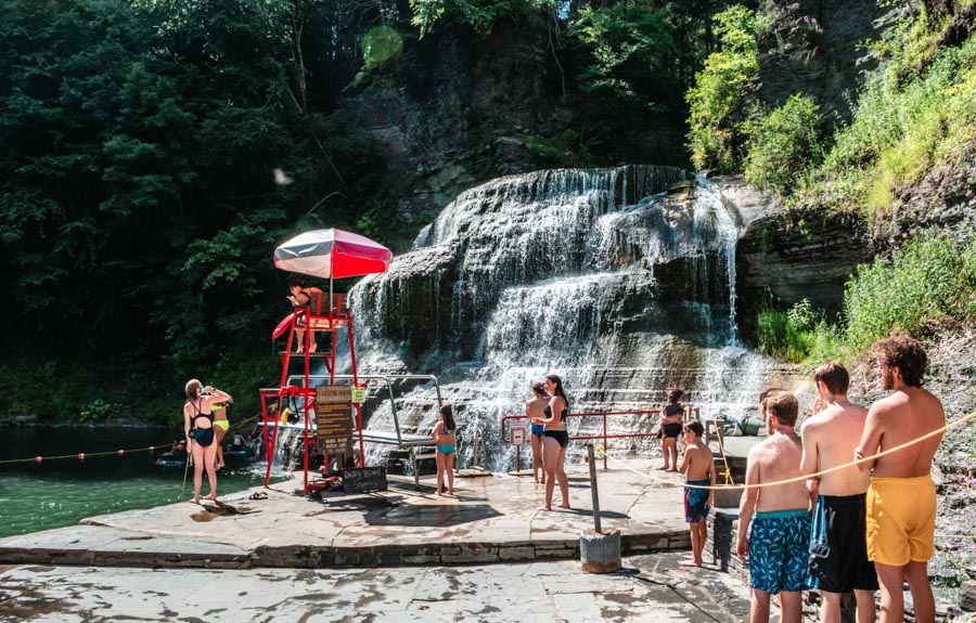
M4 427L0 436L0 460L73 456L41 463L0 463L0 536L74 525L86 517L180 501L183 465L156 465L163 450L145 449L168 446L182 431ZM120 449L141 452L76 458L80 452L90 455ZM230 460L217 475L218 495L262 484L265 467L264 462ZM191 471L184 499L193 494L192 480ZM204 476L203 495L208 491Z

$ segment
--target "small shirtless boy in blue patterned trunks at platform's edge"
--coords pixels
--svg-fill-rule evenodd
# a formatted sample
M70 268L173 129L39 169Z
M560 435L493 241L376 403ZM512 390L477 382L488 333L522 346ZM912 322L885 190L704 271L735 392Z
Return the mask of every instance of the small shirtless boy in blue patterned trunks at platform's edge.
M684 475L684 520L688 521L692 538L692 557L681 563L689 567L702 566L702 551L708 538L708 509L715 501L715 459L711 450L702 443L705 429L701 421L684 425L684 452L678 471Z

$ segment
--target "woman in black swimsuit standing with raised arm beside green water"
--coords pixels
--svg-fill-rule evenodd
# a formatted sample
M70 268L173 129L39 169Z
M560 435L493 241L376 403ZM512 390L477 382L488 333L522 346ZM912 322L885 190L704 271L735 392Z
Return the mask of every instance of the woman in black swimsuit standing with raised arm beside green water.
M204 499L217 499L217 445L214 437L214 415L210 407L216 402L231 400L229 393L213 387L201 387L198 380L187 382L187 403L183 405L183 432L187 444L193 456L193 499L200 504L200 488L203 485L203 472L207 471L210 494Z

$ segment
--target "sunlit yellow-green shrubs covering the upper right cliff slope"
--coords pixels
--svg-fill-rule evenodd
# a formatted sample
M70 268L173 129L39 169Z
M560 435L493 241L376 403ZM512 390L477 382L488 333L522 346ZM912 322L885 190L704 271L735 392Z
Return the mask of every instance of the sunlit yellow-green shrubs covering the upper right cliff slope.
M939 48L945 28L922 11L874 44L885 64L834 134L805 203L871 219L934 167L973 158L976 38Z

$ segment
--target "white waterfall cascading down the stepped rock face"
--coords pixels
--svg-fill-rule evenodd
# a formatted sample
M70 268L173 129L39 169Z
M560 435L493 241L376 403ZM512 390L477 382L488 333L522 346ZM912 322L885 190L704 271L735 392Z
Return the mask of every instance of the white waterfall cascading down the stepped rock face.
M678 169L491 181L354 288L360 374L437 375L459 407L462 462L477 429L492 469L514 462L500 418L524 413L530 382L548 373L563 377L574 413L660 406L678 386L703 417L741 417L769 363L736 340L737 236L707 181ZM398 399L401 428L428 430L433 404L429 387ZM391 427L388 410L365 414L370 427ZM656 428L641 417L611 423ZM588 426L572 420L570 433ZM613 444L624 446L646 442Z

